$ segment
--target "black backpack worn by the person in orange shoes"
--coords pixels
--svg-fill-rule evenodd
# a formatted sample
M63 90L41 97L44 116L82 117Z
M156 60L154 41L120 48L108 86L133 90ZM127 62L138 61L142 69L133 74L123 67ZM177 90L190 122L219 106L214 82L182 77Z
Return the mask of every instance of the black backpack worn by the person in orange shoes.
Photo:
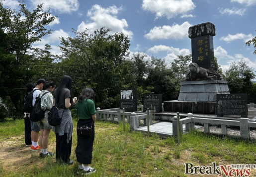
M38 121L38 120L41 120L42 118L44 118L44 113L45 111L43 111L41 109L41 98L47 94L48 92L45 92L41 97L36 97L36 102L35 102L35 105L30 113L30 117L29 119L31 121Z

